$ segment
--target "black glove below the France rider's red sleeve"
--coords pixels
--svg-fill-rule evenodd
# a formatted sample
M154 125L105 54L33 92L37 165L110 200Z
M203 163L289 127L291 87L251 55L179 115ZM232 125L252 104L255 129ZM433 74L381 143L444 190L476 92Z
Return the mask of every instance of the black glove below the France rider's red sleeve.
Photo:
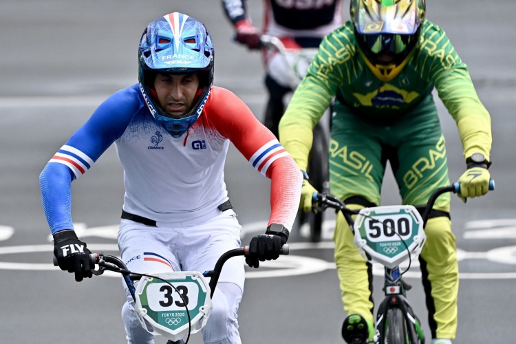
M288 229L281 224L271 224L265 234L252 237L246 264L258 268L260 261L278 259L281 248L287 243L288 233Z

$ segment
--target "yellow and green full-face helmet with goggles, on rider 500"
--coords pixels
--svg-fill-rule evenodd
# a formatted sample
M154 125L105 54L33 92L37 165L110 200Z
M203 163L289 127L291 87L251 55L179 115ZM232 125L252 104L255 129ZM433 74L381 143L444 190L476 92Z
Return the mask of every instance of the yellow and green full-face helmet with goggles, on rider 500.
M352 0L358 50L374 75L389 81L405 67L418 43L424 0Z

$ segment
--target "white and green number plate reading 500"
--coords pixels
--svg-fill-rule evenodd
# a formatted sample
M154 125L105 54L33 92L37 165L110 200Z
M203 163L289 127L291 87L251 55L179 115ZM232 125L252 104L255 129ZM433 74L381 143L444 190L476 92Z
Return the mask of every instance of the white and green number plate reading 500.
M422 226L413 206L363 208L356 217L354 242L373 260L394 268L409 253L412 258L420 253L426 239Z

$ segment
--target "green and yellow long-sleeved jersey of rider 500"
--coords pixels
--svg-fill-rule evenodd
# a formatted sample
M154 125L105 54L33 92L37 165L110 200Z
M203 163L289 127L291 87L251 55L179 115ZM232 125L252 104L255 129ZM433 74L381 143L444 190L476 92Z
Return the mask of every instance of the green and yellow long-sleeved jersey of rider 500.
M388 123L438 95L458 125L464 157L483 153L489 159L491 118L480 102L466 65L438 25L422 23L420 40L407 65L389 82L367 67L350 21L328 34L297 87L279 125L281 143L306 169L312 129L335 97L338 108L373 122Z

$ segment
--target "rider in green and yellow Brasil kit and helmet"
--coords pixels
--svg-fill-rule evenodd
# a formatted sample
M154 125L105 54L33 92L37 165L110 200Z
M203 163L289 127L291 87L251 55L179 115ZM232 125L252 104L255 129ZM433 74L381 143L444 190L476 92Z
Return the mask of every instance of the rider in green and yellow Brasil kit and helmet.
M488 191L491 118L447 35L424 14L424 0L352 0L350 21L325 37L281 119L281 144L305 171L312 129L335 96L330 191L350 208L380 204L387 161L403 204L426 204L450 184L434 88L462 140L460 197ZM311 210L314 192L305 180L304 211ZM420 255L433 344L451 343L457 330L459 270L449 212L450 196L442 195ZM372 267L347 226L339 214L334 255L348 314L342 334L347 343L372 343Z

